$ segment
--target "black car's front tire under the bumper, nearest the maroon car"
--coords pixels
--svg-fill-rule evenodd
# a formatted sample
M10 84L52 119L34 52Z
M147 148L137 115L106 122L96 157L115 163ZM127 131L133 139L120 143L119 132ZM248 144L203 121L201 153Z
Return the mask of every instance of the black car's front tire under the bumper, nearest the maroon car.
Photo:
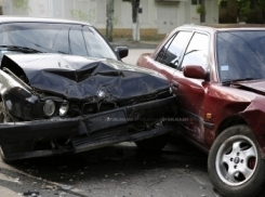
M144 153L157 153L161 152L169 142L169 134L146 139L135 142L141 152Z

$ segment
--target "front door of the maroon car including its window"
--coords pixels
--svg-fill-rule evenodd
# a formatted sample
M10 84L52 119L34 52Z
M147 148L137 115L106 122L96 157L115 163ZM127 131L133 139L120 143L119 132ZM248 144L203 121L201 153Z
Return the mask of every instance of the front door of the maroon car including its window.
M183 68L186 65L200 65L203 69L209 69L209 35L195 32L172 78L172 83L177 84L175 94L181 117L180 129L202 146L204 145L203 100L209 82L185 77Z

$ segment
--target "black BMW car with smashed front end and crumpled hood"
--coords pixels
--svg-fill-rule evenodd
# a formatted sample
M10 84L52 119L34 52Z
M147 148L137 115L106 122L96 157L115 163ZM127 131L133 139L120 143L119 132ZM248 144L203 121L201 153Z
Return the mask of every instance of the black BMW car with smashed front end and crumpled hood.
M169 82L122 63L128 49L112 50L89 24L0 17L0 54L4 161L124 141L159 150L174 129Z

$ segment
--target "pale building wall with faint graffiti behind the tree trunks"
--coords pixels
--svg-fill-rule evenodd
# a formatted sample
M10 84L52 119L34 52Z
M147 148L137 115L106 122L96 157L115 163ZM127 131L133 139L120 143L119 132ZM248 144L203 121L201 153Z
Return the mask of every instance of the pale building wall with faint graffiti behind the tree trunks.
M132 5L114 0L114 37L132 36ZM2 0L3 15L26 15L83 21L106 32L107 0ZM218 23L217 0L204 0L206 23ZM141 0L142 38L164 36L183 24L200 24L199 0Z

